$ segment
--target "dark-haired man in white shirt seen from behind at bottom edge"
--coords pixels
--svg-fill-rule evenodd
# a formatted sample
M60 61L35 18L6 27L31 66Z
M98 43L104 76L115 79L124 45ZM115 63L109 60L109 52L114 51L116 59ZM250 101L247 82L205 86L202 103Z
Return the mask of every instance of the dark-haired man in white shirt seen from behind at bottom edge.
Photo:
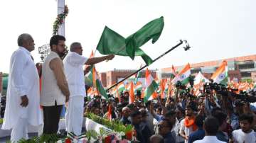
M212 116L208 116L203 123L203 129L206 131L206 136L201 140L196 140L194 143L225 143L217 139L218 120Z

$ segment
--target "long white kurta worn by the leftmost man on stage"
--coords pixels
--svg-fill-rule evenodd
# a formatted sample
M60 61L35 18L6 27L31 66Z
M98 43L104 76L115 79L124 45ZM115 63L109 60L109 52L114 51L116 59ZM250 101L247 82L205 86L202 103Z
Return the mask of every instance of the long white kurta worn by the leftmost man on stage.
M27 95L28 106L22 107L21 96ZM2 129L10 130L18 118L26 118L28 124L41 125L43 120L39 105L39 76L30 52L19 47L11 55L6 110Z

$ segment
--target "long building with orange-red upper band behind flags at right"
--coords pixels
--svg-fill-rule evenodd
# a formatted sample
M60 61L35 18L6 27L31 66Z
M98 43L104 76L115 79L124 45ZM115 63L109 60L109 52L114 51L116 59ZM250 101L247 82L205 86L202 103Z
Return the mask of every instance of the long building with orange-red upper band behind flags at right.
M210 76L218 69L223 60L228 62L228 76L230 80L252 79L252 81L256 81L256 55L191 64L191 74L197 74L198 71L201 71L206 78L210 79ZM184 65L175 67L175 69L180 71L183 67ZM161 69L161 77L170 77L170 72L171 67Z

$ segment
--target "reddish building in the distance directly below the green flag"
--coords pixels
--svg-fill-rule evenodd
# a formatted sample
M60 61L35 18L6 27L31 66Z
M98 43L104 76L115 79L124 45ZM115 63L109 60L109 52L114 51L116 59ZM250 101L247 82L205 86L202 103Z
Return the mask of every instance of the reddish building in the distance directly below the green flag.
M106 71L100 73L100 80L102 81L102 85L104 87L110 87L113 84L116 84L118 81L121 81L124 79L127 75L132 74L134 71L137 70L132 70L132 69L114 69L113 71ZM151 73L151 76L153 76L154 79L156 79L156 70L149 70ZM142 70L142 78L139 79L139 81L142 81L144 83L144 78L145 78L145 72L146 70ZM134 75L134 76L137 76ZM126 84L127 81L124 81L124 84Z

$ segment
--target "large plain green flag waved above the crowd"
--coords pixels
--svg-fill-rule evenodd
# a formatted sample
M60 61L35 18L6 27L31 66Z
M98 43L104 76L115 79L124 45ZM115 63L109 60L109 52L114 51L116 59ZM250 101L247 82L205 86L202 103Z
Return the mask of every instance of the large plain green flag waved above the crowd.
M97 44L97 50L102 55L129 56L131 59L134 59L135 56L141 56L144 62L149 65L153 60L139 47L151 39L152 43L156 42L163 28L164 18L161 17L150 21L128 38L124 38L105 26L100 41Z

